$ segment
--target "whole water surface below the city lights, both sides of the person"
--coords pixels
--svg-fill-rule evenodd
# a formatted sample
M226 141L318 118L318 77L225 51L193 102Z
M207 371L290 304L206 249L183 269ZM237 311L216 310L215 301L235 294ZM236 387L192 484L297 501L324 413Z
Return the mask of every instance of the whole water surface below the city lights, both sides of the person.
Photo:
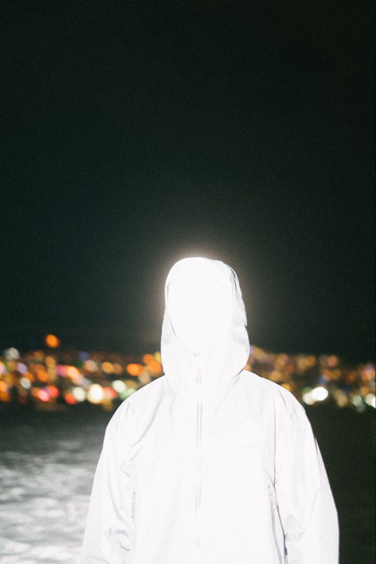
M338 509L340 564L373 564L375 410L322 405L306 412ZM0 408L1 564L79 564L111 416L97 406L57 413Z

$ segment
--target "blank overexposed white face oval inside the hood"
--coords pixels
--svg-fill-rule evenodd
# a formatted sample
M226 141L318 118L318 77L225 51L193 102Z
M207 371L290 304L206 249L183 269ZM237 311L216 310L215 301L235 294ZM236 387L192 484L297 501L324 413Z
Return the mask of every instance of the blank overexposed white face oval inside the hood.
M194 352L209 349L229 328L230 277L203 258L184 259L169 283L168 310L183 345Z

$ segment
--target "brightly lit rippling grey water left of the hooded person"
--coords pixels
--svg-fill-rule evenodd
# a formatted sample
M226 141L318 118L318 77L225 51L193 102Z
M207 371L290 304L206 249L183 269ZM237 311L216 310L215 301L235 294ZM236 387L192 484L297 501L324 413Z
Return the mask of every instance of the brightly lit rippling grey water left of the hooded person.
M105 426L100 411L40 413L2 426L2 564L79 562Z

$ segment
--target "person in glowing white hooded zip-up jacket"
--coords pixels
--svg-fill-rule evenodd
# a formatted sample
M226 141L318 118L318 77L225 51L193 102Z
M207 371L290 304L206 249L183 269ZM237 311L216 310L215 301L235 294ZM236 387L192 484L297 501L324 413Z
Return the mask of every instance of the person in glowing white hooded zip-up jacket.
M232 268L171 268L165 374L106 428L81 564L338 564L311 425L288 390L243 369L246 325Z

